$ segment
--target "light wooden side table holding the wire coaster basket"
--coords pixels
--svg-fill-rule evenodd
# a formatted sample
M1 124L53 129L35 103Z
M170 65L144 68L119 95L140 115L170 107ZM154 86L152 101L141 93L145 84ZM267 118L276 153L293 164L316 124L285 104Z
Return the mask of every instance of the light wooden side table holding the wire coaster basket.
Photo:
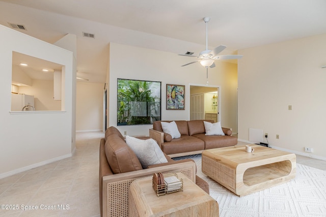
M219 204L182 173L183 191L156 196L152 176L134 180L129 189L129 216L219 216Z

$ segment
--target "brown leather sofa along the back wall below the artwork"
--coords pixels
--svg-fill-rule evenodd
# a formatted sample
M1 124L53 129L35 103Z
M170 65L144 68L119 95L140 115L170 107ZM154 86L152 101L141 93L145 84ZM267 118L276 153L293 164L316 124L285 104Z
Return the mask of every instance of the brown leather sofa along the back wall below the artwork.
M212 120L175 121L181 134L178 139L171 139L171 135L163 132L161 121L155 121L153 129L149 130L149 136L156 140L162 151L170 157L199 154L205 149L237 144L238 140L232 137L230 128L222 127L225 135L205 135L204 121L213 123Z

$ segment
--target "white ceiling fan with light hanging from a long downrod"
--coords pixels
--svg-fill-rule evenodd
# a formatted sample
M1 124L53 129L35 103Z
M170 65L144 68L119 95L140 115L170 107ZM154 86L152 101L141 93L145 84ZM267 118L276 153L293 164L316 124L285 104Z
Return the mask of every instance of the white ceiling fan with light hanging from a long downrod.
M213 68L215 67L215 60L234 60L234 59L240 59L242 57L242 55L218 55L220 52L222 52L226 46L225 45L220 45L218 47L215 47L213 50L209 50L208 49L208 43L207 43L207 24L209 22L210 18L209 17L204 17L204 21L206 23L206 49L201 51L199 53L199 56L195 56L195 55L189 55L189 54L184 54L180 56L186 56L186 57L197 57L198 60L191 62L191 63L187 63L184 64L182 66L187 66L193 63L197 63L200 62L200 64L204 67L206 67L206 69L208 69L208 67Z

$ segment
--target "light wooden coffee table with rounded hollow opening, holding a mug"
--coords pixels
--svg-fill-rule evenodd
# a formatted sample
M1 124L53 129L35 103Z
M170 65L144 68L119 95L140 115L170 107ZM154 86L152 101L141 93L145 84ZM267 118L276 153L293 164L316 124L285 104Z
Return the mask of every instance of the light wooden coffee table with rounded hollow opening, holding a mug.
M295 154L251 145L205 150L202 153L202 172L238 196L282 184L295 177Z

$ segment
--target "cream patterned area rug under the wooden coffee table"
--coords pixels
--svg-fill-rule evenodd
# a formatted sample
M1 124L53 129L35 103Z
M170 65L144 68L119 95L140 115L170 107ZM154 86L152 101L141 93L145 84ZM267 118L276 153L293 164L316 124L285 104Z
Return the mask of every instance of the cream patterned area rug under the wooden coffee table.
M201 155L192 158L197 175L209 183L210 196L219 203L220 216L326 216L326 171L296 164L294 179L263 191L238 197L201 171Z

